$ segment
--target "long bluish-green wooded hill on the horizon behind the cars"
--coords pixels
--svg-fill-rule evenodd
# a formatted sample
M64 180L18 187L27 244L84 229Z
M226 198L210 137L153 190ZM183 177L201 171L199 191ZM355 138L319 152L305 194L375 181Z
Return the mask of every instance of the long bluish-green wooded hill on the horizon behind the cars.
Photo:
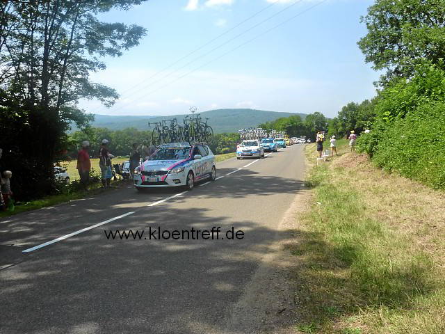
M191 113L188 114L191 116ZM201 117L209 118L208 123L213 132L216 134L221 132L237 132L238 129L246 127L256 127L257 125L275 120L280 117L289 117L292 115L299 115L304 120L305 113L282 113L275 111L264 111L254 109L217 109L203 111L200 113ZM186 115L173 116L107 116L95 115L95 121L92 122L93 127L106 127L111 130L122 130L127 127L135 127L138 130L147 130L148 121L159 122L160 120L169 120L177 118L180 125ZM72 131L76 129L73 127Z

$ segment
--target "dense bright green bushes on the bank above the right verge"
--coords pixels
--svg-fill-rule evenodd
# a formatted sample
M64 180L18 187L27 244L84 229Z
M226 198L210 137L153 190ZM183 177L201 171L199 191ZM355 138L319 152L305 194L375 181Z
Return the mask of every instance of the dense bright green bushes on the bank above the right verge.
M396 79L382 90L371 133L360 136L357 146L387 170L445 189L445 71L441 67L421 63L412 79Z

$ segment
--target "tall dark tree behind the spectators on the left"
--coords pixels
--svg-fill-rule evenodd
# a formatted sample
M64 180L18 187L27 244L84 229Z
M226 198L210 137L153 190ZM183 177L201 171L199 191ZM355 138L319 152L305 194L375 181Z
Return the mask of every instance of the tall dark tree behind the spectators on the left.
M6 168L18 196L56 191L53 164L65 155L72 123L92 120L81 98L106 106L118 93L90 81L102 56L120 56L145 35L140 26L100 22L97 14L142 0L31 0L0 3L0 132ZM37 181L36 181L37 180Z

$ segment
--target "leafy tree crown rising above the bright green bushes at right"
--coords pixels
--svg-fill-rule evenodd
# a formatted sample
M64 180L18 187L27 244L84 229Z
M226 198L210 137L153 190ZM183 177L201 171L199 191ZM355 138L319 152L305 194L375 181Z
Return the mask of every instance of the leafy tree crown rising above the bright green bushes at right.
M362 17L368 33L357 43L366 63L386 69L381 86L396 77L410 78L426 59L445 58L445 2L442 0L376 0Z

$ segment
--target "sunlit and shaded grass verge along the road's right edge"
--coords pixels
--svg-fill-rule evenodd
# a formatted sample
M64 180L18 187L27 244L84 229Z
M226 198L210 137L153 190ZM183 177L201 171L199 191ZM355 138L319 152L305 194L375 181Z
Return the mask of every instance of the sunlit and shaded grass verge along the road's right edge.
M305 154L314 165L315 145ZM445 333L445 196L339 145L289 251L296 333Z

